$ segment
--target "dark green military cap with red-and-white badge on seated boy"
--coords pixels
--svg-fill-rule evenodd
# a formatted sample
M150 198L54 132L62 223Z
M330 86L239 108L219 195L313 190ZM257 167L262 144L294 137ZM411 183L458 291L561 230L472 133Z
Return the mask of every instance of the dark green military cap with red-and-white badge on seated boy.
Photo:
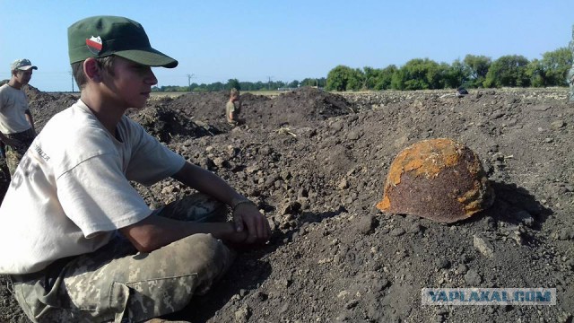
M178 61L152 48L138 22L116 16L94 16L68 27L70 64L88 57L116 55L147 66L173 68Z

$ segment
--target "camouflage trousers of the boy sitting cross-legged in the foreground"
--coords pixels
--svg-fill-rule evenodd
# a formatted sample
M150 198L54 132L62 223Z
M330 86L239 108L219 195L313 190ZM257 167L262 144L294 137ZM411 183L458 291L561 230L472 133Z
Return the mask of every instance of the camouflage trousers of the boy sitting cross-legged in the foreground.
M191 222L222 222L227 206L196 194L154 211ZM16 300L33 322L140 322L183 309L207 292L234 253L194 234L150 253L123 236L91 254L60 259L40 273L13 275Z

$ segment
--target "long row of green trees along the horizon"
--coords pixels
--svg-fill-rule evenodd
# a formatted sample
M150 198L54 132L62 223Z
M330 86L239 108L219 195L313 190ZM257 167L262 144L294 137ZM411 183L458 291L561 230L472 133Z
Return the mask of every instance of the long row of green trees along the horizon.
M414 58L401 67L388 65L385 68L365 66L352 68L338 65L326 78L306 78L303 81L285 83L239 82L230 79L227 83L197 84L190 86L161 86L153 91L211 92L236 88L241 91L293 89L300 86L317 86L326 91L368 91L368 90L435 90L500 87L548 87L568 86L568 73L573 57L569 48L558 48L545 52L540 59L529 61L520 55L507 55L492 60L491 57L466 55L452 64L437 63L429 58Z

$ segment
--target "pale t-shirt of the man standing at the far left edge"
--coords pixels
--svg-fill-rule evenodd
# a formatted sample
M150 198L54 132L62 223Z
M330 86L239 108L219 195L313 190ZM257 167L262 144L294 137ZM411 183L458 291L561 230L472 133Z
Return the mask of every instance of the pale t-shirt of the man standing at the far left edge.
M24 115L27 109L26 93L8 84L0 86L0 132L14 134L30 129Z

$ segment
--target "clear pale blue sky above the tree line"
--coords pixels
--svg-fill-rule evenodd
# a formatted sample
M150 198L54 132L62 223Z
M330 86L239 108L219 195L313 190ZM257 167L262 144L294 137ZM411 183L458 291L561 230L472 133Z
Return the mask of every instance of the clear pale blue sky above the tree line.
M187 74L192 83L291 82L336 65L451 64L467 54L532 60L568 47L574 1L0 0L0 13L0 79L27 57L39 67L30 84L55 92L72 90L67 27L91 15L140 22L154 48L178 59L154 69L161 86L187 85Z

